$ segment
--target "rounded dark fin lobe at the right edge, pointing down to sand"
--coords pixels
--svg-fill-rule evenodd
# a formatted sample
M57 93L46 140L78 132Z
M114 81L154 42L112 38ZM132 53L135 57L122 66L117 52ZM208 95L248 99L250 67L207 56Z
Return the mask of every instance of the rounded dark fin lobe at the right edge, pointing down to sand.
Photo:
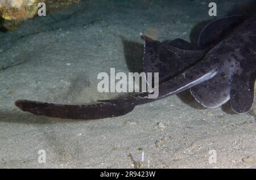
M255 78L237 76L230 92L231 108L236 113L246 113L253 106Z

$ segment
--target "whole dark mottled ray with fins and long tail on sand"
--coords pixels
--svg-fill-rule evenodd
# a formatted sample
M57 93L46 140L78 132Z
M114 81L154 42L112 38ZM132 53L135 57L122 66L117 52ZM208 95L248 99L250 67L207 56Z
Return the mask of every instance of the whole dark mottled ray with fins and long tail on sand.
M256 78L256 15L214 20L200 33L197 45L179 38L172 41L144 39L144 72L159 72L159 96L136 93L89 105L63 105L18 100L24 112L68 119L117 117L135 106L175 95L185 89L207 108L230 100L236 113L253 106Z

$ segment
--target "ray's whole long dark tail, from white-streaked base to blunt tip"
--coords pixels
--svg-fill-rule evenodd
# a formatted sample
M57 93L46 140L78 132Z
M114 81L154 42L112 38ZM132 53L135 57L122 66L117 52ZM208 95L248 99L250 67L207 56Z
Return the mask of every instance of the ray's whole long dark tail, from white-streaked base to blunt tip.
M102 100L96 104L88 105L52 104L30 100L18 100L15 105L23 112L54 118L101 119L117 117L131 112L136 105L159 100L191 88L193 85L213 78L216 73L215 68L209 68L209 66L200 63L189 68L183 74L160 84L157 98L148 98L149 93L142 92L117 100Z

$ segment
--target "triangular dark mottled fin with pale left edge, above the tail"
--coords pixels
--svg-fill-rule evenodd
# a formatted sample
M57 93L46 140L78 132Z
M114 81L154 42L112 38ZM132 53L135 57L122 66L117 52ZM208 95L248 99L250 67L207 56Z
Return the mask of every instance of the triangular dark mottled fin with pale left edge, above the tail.
M174 40L170 42L159 42L149 37L144 39L143 71L158 72L159 82L178 75L188 69L203 57L205 50L184 50L177 46L189 46L189 42ZM188 47L186 47L188 48ZM152 74L154 77L154 74Z

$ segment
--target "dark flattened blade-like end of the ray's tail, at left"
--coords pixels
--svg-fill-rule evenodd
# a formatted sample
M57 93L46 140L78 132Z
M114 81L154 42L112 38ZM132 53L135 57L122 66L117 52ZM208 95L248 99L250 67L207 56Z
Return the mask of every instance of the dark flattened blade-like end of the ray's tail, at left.
M23 112L64 119L101 119L125 115L134 109L133 103L101 102L89 105L65 105L47 102L18 100L15 102Z

